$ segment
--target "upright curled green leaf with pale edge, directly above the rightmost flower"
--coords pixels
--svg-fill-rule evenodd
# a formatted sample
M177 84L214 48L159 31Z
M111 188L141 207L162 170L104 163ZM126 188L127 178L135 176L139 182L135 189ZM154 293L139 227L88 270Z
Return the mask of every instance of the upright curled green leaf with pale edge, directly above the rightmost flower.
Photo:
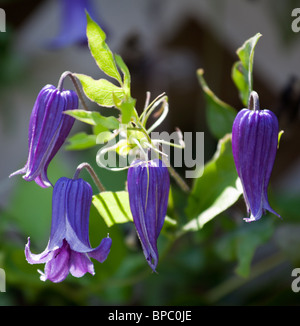
M262 35L257 33L247 40L238 50L237 61L232 68L232 79L239 90L242 103L247 106L249 95L253 90L253 58L257 41Z

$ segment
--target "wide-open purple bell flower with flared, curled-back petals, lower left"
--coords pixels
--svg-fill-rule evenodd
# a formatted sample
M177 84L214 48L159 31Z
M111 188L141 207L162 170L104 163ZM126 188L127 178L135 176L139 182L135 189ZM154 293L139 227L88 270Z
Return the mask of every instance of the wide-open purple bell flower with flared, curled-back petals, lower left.
M47 248L40 254L30 251L30 238L25 246L25 256L30 264L45 263L41 280L61 282L69 274L81 277L92 275L94 265L91 258L105 261L111 239L102 239L97 248L89 242L89 213L92 202L92 188L83 179L58 179L53 189L52 224Z

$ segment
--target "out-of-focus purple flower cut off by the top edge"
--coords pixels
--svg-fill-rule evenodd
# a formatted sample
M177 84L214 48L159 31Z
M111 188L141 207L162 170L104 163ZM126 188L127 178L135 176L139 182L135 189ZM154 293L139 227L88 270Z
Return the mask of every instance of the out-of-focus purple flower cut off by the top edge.
M60 31L59 34L49 42L48 46L52 49L58 49L74 44L87 44L86 11L93 20L99 23L91 0L59 0L59 3L61 6Z

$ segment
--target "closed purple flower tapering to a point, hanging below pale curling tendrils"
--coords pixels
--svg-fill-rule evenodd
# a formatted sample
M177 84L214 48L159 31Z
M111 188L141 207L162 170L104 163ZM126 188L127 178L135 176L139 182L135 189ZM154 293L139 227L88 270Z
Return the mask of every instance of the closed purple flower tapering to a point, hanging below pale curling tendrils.
M127 187L136 231L146 260L155 272L158 264L157 239L168 206L168 169L158 159L135 161L128 170Z

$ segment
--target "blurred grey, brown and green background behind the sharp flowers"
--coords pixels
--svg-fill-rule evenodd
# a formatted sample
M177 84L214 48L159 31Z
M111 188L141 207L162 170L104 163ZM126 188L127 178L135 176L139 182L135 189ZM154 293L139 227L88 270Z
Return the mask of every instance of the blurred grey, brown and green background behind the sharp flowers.
M158 275L146 266L135 231L126 224L109 229L112 252L105 263L95 263L94 277L69 276L61 284L39 280L36 270L43 266L27 264L24 245L30 236L33 252L46 247L52 190L8 175L26 162L28 122L40 89L57 85L67 70L101 77L87 45L75 32L68 34L74 26L63 25L67 18L62 2L0 0L6 13L6 31L0 32L0 268L6 272L6 292L0 293L0 305L298 305L300 293L291 289L292 270L300 267L300 33L291 28L292 10L299 6L293 0L90 1L92 17L105 30L109 47L129 67L137 110L141 112L147 91L151 98L166 92L170 113L160 128L203 131L206 161L217 140L206 125L196 70L204 69L219 98L242 109L231 79L236 50L262 34L255 50L254 89L261 108L274 111L284 130L270 197L283 220L272 222L271 232L266 229L266 241L259 238L249 275L242 277L235 270L243 237L235 219L236 212L245 213L241 199L162 254ZM73 41L66 42L66 35ZM69 80L65 87L72 88ZM76 122L72 134L85 128ZM97 148L61 150L50 165L51 180L71 177L87 161L108 189L124 189L126 173L100 170L96 153ZM88 174L83 177L89 180ZM277 218L267 216L262 225L268 227L270 219ZM90 223L96 246L108 231L94 208ZM257 227L249 241L256 241ZM164 238L160 241L163 246Z

